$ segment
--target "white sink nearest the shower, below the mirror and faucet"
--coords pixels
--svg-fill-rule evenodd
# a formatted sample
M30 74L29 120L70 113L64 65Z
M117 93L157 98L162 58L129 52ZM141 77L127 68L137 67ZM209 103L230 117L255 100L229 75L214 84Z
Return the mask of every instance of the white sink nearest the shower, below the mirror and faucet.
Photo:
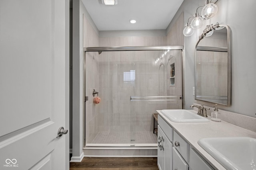
M165 115L170 121L173 122L208 122L209 120L205 117L197 115L189 110L184 109L173 109L173 110L161 110L161 113Z

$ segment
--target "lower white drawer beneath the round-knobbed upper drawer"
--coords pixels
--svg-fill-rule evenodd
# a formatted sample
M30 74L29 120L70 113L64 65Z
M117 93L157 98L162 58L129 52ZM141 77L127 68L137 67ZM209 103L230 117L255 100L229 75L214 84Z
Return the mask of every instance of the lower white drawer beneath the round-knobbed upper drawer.
M172 148L172 162L172 170L188 170L188 164L174 147Z

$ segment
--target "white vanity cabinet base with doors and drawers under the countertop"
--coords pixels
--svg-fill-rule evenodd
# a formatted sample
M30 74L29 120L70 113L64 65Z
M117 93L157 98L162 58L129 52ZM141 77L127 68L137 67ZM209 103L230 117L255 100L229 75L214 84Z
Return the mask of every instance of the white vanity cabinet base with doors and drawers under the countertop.
M159 170L214 170L196 150L192 149L188 141L160 116L157 163Z

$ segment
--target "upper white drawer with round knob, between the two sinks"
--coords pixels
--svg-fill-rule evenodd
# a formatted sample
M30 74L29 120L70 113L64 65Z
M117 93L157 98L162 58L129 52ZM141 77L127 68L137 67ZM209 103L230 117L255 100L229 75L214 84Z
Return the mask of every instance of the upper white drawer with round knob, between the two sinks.
M189 160L189 144L176 133L173 132L173 146L178 150L181 156L184 158L186 162Z

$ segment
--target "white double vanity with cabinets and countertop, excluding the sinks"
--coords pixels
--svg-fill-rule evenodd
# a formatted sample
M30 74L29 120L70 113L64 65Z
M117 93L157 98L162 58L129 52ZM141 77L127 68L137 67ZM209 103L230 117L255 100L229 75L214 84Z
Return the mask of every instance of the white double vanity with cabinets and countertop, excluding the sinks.
M190 110L197 113L194 110ZM252 137L256 133L225 121L178 123L158 110L159 170L226 170L198 141L210 137Z

